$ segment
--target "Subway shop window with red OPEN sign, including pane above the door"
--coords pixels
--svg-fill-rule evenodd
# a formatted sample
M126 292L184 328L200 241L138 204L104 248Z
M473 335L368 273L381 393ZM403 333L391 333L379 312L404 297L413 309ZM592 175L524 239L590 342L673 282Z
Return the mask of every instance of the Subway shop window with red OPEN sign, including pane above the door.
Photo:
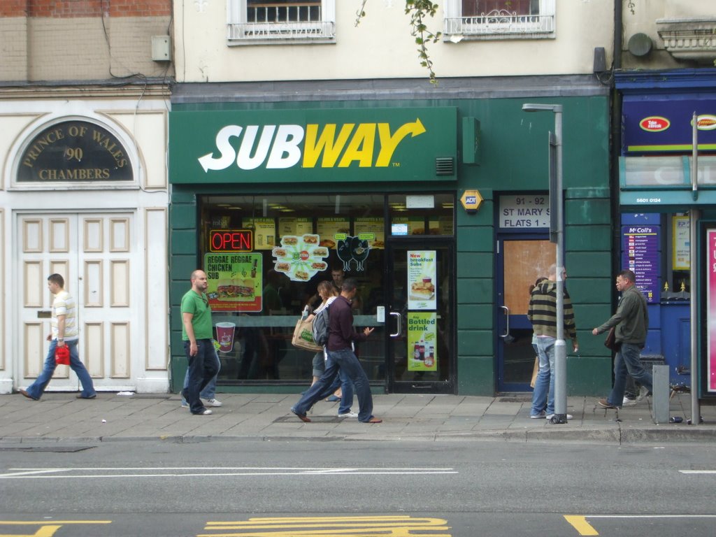
M200 198L221 382L310 382L312 354L291 345L294 326L306 304L320 303L321 281L345 277L359 285L356 326L376 328L357 354L369 379L384 381L384 324L376 317L385 305L386 206L407 234L453 235L453 194Z

